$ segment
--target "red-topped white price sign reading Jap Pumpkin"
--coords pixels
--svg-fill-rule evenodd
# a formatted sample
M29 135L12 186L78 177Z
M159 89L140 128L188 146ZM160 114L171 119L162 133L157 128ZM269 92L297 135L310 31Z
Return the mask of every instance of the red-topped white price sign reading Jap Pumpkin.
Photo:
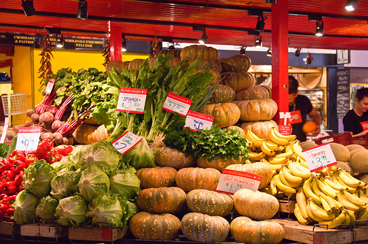
M260 186L262 176L248 172L232 169L223 169L217 184L216 192L224 192L230 195L240 189L250 189L257 191Z

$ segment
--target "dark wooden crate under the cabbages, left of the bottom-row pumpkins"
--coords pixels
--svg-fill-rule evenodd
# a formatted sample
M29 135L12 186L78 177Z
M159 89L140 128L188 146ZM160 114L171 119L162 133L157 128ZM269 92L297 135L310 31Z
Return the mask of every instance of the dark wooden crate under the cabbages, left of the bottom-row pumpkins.
M98 228L98 227L69 227L68 238L70 240L90 241L115 241L123 238L128 226L122 228Z

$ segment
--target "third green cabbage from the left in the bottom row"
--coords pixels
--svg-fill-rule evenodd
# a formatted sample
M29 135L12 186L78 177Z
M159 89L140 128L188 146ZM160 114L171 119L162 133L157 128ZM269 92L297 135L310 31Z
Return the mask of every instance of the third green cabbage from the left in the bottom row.
M87 203L79 196L71 196L60 199L55 210L58 223L65 226L79 226L87 221Z

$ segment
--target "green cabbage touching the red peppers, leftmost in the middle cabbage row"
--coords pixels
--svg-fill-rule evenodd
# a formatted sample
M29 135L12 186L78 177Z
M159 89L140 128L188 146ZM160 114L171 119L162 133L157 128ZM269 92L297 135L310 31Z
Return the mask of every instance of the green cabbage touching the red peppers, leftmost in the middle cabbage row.
M23 187L39 198L44 197L50 192L50 182L55 175L54 169L45 160L36 161L24 169Z

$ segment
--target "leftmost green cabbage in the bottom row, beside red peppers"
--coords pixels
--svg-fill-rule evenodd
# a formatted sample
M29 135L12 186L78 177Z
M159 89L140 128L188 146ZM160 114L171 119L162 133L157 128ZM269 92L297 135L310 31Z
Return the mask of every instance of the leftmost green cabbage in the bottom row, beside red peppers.
M36 220L36 208L38 205L38 198L31 192L23 190L18 193L14 206L14 220L17 224L30 223Z

